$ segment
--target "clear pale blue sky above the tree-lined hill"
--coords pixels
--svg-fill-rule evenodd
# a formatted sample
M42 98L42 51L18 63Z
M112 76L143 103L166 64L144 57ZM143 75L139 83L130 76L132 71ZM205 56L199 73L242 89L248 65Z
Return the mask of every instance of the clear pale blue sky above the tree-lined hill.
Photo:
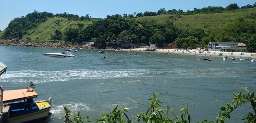
M92 18L105 18L114 14L134 14L134 12L154 11L161 8L166 11L194 10L208 6L226 8L231 3L239 7L253 5L256 0L1 0L0 2L0 30L4 30L14 18L28 13L51 12L70 13L79 16L89 14Z

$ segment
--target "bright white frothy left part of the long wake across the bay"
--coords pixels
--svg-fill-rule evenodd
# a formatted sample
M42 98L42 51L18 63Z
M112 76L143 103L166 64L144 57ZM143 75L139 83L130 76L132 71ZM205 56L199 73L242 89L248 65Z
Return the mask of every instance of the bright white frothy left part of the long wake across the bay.
M143 75L145 70L117 70L117 71L97 71L88 69L73 69L61 71L36 71L21 70L8 71L0 78L1 82L10 83L26 83L28 81L36 81L37 83L46 83L53 81L68 81L72 79L108 79L136 77Z

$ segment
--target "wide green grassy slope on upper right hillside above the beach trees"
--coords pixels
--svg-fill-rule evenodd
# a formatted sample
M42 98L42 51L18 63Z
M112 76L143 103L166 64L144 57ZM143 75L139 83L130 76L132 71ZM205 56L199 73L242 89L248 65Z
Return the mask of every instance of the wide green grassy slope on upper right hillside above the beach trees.
M223 11L222 13L211 14L195 14L195 15L157 15L136 18L138 21L156 20L157 22L164 22L170 20L179 28L187 30L202 28L206 32L219 33L219 29L230 22L239 20L240 18L249 19L252 13L256 13L256 8L240 9L236 11Z

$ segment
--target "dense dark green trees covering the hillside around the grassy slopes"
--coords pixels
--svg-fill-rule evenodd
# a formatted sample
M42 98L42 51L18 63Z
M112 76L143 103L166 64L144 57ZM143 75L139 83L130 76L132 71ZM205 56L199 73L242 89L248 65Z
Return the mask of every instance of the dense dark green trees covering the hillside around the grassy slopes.
M247 5L241 8L256 7ZM207 7L202 9L194 8L193 11L182 10L166 11L161 8L157 12L146 11L129 15L107 15L105 19L95 19L88 14L79 17L78 15L62 13L53 15L48 12L37 12L27 14L25 17L15 18L4 30L1 39L21 39L30 29L36 28L38 24L46 22L48 18L62 17L69 21L93 21L92 24L84 26L78 23L79 28L67 27L65 31L55 30L51 38L47 40L66 41L81 44L84 41L95 42L98 48L105 48L107 45L114 48L119 47L123 42L133 44L156 44L158 47L166 47L172 43L178 48L204 47L210 41L240 42L248 45L249 51L256 50L256 23L240 18L230 22L222 28L219 34L205 32L202 28L182 29L175 26L170 20L158 22L156 20L136 21L134 17L155 16L159 14L191 15L198 13L214 13L240 9L237 4L230 4L223 7ZM256 13L251 13L249 19L256 20Z

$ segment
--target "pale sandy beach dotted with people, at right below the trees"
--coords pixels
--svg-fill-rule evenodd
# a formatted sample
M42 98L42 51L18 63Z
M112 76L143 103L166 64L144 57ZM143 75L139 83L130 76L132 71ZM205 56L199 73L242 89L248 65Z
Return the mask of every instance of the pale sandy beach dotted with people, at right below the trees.
M144 51L145 48L133 48L133 49L122 49L127 51L138 51L138 52L160 52L166 54L188 54L188 55L197 55L197 56L219 56L219 53L222 53L221 56L227 57L236 57L236 58L249 58L249 59L256 59L256 53L242 53L241 52L219 52L219 51L203 51L197 49L189 49L189 50L181 50L181 49L158 49L155 51Z

